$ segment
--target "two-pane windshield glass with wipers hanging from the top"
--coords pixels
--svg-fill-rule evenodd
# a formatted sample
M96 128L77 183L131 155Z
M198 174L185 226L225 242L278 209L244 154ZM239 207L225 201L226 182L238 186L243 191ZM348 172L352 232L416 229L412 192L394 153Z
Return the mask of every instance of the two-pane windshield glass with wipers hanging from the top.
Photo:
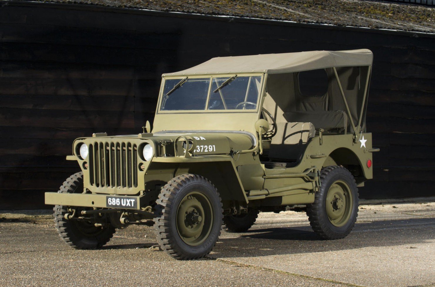
M160 110L257 110L261 76L166 79Z

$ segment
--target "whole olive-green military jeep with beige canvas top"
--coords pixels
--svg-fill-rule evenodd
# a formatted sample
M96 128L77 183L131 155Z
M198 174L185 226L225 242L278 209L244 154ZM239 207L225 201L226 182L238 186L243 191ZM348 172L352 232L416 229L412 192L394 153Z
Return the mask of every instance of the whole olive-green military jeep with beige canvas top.
M163 74L152 128L74 141L67 160L81 171L45 194L60 237L92 249L117 228L154 225L167 254L197 259L223 224L243 232L260 211L295 206L321 238L347 236L379 150L365 125L372 58L217 57Z

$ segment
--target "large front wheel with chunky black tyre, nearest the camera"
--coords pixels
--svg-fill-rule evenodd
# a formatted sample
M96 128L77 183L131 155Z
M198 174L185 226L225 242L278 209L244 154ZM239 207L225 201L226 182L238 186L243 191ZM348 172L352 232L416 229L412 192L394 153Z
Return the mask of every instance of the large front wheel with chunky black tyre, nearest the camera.
M174 177L155 207L160 247L178 260L205 257L221 235L222 212L221 197L209 180L196 174Z

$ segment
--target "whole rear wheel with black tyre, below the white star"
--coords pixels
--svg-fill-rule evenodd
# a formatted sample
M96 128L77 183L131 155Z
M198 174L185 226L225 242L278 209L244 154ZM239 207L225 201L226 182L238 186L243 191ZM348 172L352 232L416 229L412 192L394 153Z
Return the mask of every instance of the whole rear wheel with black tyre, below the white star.
M313 204L307 206L312 229L323 239L346 237L358 216L358 188L345 167L324 167L321 186Z

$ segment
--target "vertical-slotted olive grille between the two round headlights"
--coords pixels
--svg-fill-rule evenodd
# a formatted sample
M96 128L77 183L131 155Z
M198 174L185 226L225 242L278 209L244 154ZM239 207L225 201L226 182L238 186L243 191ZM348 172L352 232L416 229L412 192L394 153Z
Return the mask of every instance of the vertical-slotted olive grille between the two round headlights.
M90 144L89 174L90 184L95 187L137 187L137 145Z

